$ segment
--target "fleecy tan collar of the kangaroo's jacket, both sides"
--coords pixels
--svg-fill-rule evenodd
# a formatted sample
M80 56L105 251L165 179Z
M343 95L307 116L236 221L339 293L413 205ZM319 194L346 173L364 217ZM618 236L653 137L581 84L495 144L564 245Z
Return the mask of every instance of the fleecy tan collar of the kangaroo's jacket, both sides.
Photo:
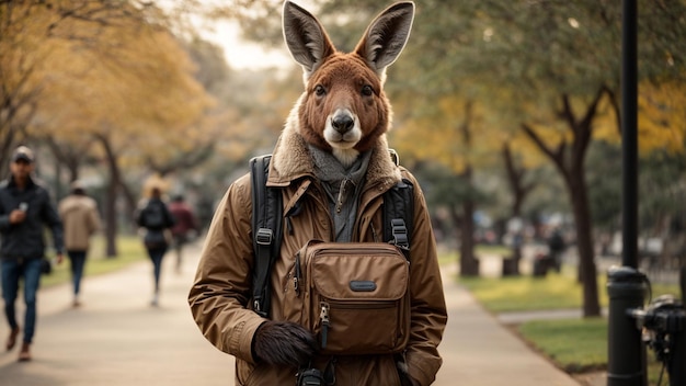
M286 186L299 178L315 179L315 166L307 143L296 130L297 120L291 117L282 132L270 163L268 185ZM381 135L374 148L367 168L366 185L393 185L400 181L400 169L389 154L386 135ZM381 185L381 186L382 186Z

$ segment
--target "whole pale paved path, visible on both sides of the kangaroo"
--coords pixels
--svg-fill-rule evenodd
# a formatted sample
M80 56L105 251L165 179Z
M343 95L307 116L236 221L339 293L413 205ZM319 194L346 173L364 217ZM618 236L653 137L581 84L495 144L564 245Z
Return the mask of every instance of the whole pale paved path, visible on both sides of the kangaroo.
M232 357L205 341L186 304L197 252L186 252L182 274L173 272L172 256L167 257L159 308L149 306L148 262L87 277L84 305L78 309L70 307L69 286L43 290L34 360L18 363L16 349L0 353L0 385L233 385ZM579 386L448 275L446 271L449 321L439 348L444 365L434 385ZM8 331L2 322L2 343Z

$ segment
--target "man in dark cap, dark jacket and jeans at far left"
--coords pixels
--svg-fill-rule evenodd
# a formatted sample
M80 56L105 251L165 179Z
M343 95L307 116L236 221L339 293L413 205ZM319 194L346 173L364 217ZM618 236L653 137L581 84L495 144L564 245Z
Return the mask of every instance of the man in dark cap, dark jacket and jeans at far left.
M4 316L10 326L5 349L14 348L20 333L14 303L23 281L24 337L19 353L22 362L31 361L41 263L45 253L44 226L52 230L58 264L62 261L64 247L62 224L47 190L32 177L34 168L33 151L20 146L12 154L10 178L0 183L0 268Z

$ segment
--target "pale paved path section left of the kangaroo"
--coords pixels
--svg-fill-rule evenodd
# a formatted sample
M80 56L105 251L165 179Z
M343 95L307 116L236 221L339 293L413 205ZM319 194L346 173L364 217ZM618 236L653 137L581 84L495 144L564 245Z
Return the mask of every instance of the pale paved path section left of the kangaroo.
M232 361L203 338L186 303L196 256L188 250L181 275L167 256L159 308L149 305L147 261L87 277L78 309L70 307L69 286L43 290L34 360L18 363L16 349L0 353L0 385L232 385ZM3 322L2 343L8 331Z

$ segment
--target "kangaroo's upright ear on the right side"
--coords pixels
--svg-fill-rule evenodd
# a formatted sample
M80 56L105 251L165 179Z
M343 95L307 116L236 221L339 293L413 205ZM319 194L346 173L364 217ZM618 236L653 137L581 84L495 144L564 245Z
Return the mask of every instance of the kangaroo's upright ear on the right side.
M405 1L390 5L376 16L357 43L355 52L365 58L367 65L381 79L385 78L386 67L396 61L408 43L413 20L413 2Z

